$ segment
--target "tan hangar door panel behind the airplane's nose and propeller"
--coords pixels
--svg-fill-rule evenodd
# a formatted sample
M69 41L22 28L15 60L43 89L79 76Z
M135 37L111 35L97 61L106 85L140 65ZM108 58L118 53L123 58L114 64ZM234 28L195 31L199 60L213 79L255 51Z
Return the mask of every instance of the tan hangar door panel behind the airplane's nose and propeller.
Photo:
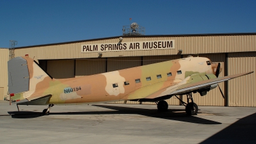
M184 58L187 56L184 55ZM221 63L223 70L219 77L225 76L225 54L199 54L199 56L209 58L212 62ZM219 86L222 92L225 93L224 83L219 83ZM183 96L183 100L186 102L186 95ZM225 104L225 99L223 99L218 87L210 90L203 97L199 93L193 93L193 100L198 106L224 106Z

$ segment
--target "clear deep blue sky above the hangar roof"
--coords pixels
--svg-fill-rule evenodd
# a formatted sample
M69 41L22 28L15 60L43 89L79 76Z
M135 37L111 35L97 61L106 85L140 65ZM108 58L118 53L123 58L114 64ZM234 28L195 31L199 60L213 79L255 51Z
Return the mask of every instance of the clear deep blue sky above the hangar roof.
M2 0L0 47L121 36L131 22L145 35L255 33L256 1Z

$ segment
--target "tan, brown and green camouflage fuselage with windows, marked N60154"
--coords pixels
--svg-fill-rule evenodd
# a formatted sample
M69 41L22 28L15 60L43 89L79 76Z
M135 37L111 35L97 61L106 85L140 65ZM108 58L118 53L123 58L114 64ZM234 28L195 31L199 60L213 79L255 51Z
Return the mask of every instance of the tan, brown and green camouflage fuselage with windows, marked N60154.
M92 103L153 97L191 75L214 74L208 58L189 57L70 79L52 79L36 95L51 93L49 103ZM191 80L191 79L190 79Z

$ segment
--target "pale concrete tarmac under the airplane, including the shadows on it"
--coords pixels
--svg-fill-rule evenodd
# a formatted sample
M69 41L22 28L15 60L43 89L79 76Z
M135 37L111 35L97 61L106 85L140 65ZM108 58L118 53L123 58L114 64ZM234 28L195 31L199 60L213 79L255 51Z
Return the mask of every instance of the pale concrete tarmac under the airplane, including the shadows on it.
M256 108L83 104L9 106L0 101L0 143L256 143ZM8 114L11 113L11 115Z

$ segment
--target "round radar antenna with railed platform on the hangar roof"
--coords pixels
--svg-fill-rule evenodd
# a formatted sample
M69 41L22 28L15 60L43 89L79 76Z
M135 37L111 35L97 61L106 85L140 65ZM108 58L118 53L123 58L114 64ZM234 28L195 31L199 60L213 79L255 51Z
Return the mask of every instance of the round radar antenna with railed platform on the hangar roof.
M132 22L131 26L123 26L123 35L145 35L145 28Z

